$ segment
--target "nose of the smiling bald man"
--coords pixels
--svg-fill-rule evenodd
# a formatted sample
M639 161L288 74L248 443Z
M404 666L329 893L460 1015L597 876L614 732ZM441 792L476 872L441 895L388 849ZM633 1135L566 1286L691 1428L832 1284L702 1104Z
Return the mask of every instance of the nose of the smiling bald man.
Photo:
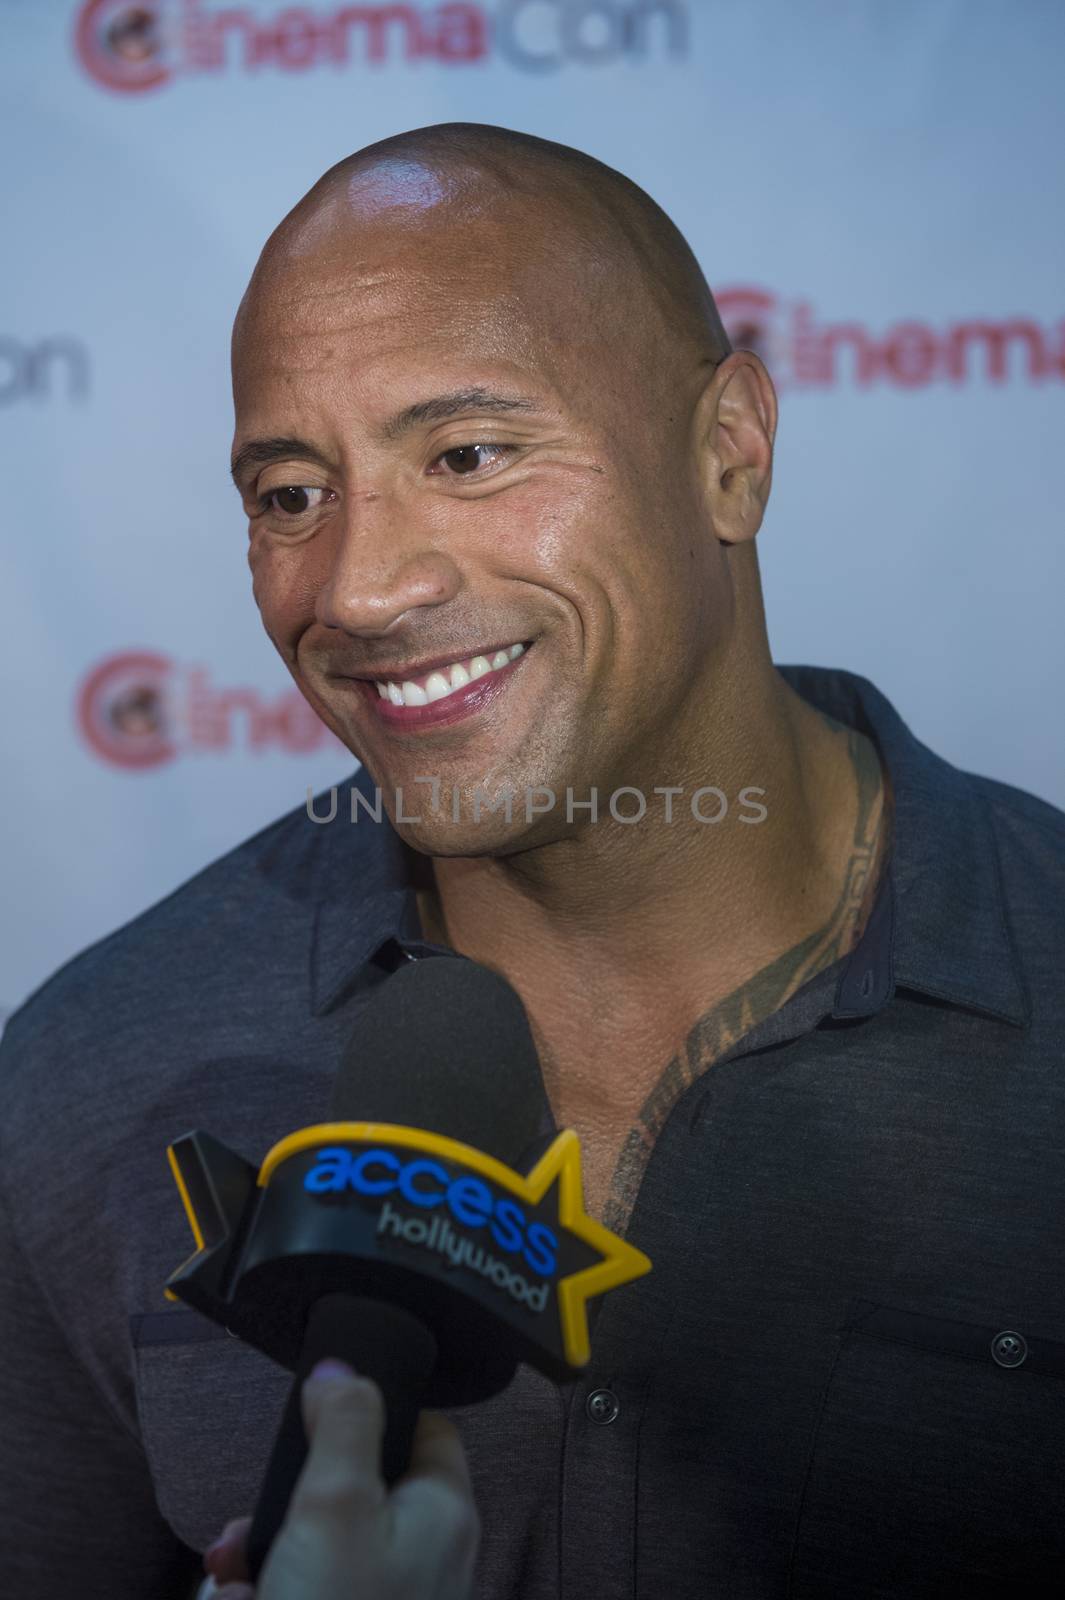
M446 605L459 592L454 560L377 490L352 496L329 533L329 568L315 602L323 627L385 634L406 611Z

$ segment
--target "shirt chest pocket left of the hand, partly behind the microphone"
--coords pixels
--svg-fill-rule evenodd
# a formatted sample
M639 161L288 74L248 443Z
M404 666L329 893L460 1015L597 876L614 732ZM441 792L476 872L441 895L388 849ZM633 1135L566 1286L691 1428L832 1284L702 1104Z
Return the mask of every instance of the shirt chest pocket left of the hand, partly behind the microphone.
M131 1317L130 1336L157 1504L203 1550L254 1512L293 1374L190 1309Z

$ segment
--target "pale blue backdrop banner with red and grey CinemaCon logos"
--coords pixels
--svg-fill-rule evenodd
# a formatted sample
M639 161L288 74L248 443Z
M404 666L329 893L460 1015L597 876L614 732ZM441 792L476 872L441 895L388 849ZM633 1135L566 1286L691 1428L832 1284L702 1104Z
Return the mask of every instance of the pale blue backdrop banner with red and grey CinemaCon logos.
M355 766L251 598L229 333L320 173L433 122L577 146L691 242L780 395L774 658L1065 806L1060 5L0 0L0 1014Z

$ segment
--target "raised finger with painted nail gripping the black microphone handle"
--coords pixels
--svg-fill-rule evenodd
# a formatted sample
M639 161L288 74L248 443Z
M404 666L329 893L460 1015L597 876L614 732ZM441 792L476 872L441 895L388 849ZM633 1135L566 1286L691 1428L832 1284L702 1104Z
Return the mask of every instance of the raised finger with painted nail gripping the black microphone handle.
M307 1379L301 1395L307 1464L289 1502L291 1515L339 1514L361 1520L387 1499L381 1475L384 1398L369 1378Z

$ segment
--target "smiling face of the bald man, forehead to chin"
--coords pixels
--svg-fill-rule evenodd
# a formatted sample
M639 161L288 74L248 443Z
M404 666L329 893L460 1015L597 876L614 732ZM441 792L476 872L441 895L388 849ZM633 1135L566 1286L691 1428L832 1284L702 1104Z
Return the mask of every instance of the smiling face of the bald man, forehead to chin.
M692 438L712 363L593 240L564 200L382 162L312 192L238 315L256 603L429 854L572 834L568 786L683 782L731 629ZM537 786L558 805L529 822Z

